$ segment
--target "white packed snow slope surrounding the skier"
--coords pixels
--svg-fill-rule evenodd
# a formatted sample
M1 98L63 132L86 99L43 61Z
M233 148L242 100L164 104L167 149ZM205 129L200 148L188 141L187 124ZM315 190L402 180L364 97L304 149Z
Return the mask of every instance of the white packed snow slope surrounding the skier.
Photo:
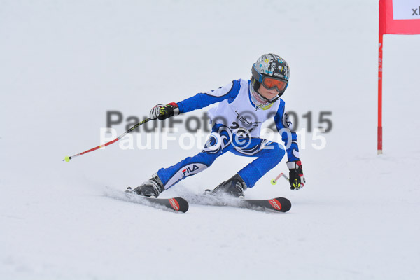
M418 279L420 36L384 38L378 156L378 16L377 0L1 0L0 279ZM249 78L266 52L290 64L299 129L332 112L325 148L300 137L302 190L270 184L286 160L246 190L288 197L287 214L113 198L200 151L178 141L62 162L99 144L106 111L123 113L122 134L155 104ZM250 160L223 155L162 197L214 188Z

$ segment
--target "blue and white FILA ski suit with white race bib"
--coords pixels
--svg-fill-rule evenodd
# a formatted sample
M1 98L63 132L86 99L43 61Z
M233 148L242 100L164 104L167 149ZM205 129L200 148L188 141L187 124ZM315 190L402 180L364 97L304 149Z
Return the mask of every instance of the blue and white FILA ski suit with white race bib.
M187 113L219 102L217 107L209 110L213 127L202 151L158 170L165 189L207 169L228 151L256 158L237 172L248 188L255 186L262 176L278 165L285 153L288 161L300 160L297 136L290 130L291 122L284 101L279 98L271 104L256 106L251 98L251 86L250 80L233 80L217 90L199 93L176 103L180 113ZM260 138L261 124L273 117L286 151L281 144Z

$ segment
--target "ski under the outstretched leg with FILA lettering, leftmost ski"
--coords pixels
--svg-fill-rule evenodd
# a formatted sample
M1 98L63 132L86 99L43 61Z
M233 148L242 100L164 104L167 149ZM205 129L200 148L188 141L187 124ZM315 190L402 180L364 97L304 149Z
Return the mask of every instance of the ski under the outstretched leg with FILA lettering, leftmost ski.
M171 197L171 198L154 198L154 197L144 197L133 193L130 189L125 190L125 195L128 198L128 201L135 202L139 204L148 205L151 207L159 209L171 209L177 212L186 213L188 211L188 202L182 197ZM163 207L163 208L162 208Z

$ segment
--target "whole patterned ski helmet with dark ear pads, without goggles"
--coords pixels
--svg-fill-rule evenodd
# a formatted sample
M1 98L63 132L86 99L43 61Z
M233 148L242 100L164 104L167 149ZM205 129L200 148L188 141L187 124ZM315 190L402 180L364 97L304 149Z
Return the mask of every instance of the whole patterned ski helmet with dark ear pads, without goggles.
M260 58L257 59L257 62L253 64L251 72L251 83L255 92L257 92L257 90L260 88L262 78L265 76L284 80L288 85L290 68L286 60L281 58L279 55L274 55L273 53L261 55ZM287 85L284 90L279 92L279 97L283 95Z

